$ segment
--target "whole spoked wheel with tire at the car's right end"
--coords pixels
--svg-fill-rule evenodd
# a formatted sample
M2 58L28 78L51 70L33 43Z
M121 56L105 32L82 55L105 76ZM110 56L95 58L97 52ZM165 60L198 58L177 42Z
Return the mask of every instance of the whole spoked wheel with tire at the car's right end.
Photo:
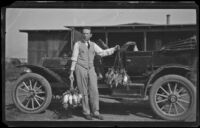
M150 90L150 105L161 118L181 121L189 117L196 105L194 85L179 75L165 75Z

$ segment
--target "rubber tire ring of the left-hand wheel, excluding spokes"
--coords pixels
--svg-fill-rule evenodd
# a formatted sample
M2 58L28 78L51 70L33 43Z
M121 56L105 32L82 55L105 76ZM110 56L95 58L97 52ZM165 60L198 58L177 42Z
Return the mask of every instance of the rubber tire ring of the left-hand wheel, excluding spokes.
M23 81L24 79L27 79L27 78L29 78L29 77L32 77L32 78L37 79L38 81L40 81L40 82L42 83L43 87L45 88L46 93L47 93L47 98L46 98L45 103L44 103L40 108L38 108L38 109L36 109L36 110L26 110L26 109L24 109L24 108L21 107L21 105L17 102L16 96L15 96L15 95L16 95L16 89L17 89L19 83L20 83L21 81ZM39 75L39 74L36 74L36 73L26 73L26 74L22 75L22 76L16 81L16 83L15 83L15 85L14 85L14 87L13 87L13 90L12 90L12 99L13 99L14 104L16 105L16 107L17 107L20 111L22 111L22 112L24 112L24 113L40 113L40 112L44 111L44 110L49 106L49 104L50 104L50 102L51 102L51 99L52 99L52 90L51 90L51 86L50 86L49 82L48 82L43 76L41 76L41 75Z

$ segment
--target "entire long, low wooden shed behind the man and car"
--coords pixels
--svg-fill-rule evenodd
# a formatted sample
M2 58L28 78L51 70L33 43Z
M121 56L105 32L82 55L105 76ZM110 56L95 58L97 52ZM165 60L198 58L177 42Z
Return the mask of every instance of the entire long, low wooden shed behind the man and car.
M152 25L122 24L115 26L65 26L62 30L20 30L28 33L28 63L40 65L42 57L71 55L74 42L81 39L81 29L91 27L91 40L102 39L109 47L135 41L140 51L159 50L168 42L197 35L196 24Z

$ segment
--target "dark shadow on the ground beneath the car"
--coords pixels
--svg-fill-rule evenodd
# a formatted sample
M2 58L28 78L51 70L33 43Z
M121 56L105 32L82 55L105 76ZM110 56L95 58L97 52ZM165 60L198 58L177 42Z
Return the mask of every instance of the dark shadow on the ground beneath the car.
M48 109L56 114L54 119L67 119L72 118L73 116L83 117L81 107L65 110L59 101L51 103ZM141 118L160 119L153 113L148 103L112 103L100 101L100 113L113 116L133 114Z

